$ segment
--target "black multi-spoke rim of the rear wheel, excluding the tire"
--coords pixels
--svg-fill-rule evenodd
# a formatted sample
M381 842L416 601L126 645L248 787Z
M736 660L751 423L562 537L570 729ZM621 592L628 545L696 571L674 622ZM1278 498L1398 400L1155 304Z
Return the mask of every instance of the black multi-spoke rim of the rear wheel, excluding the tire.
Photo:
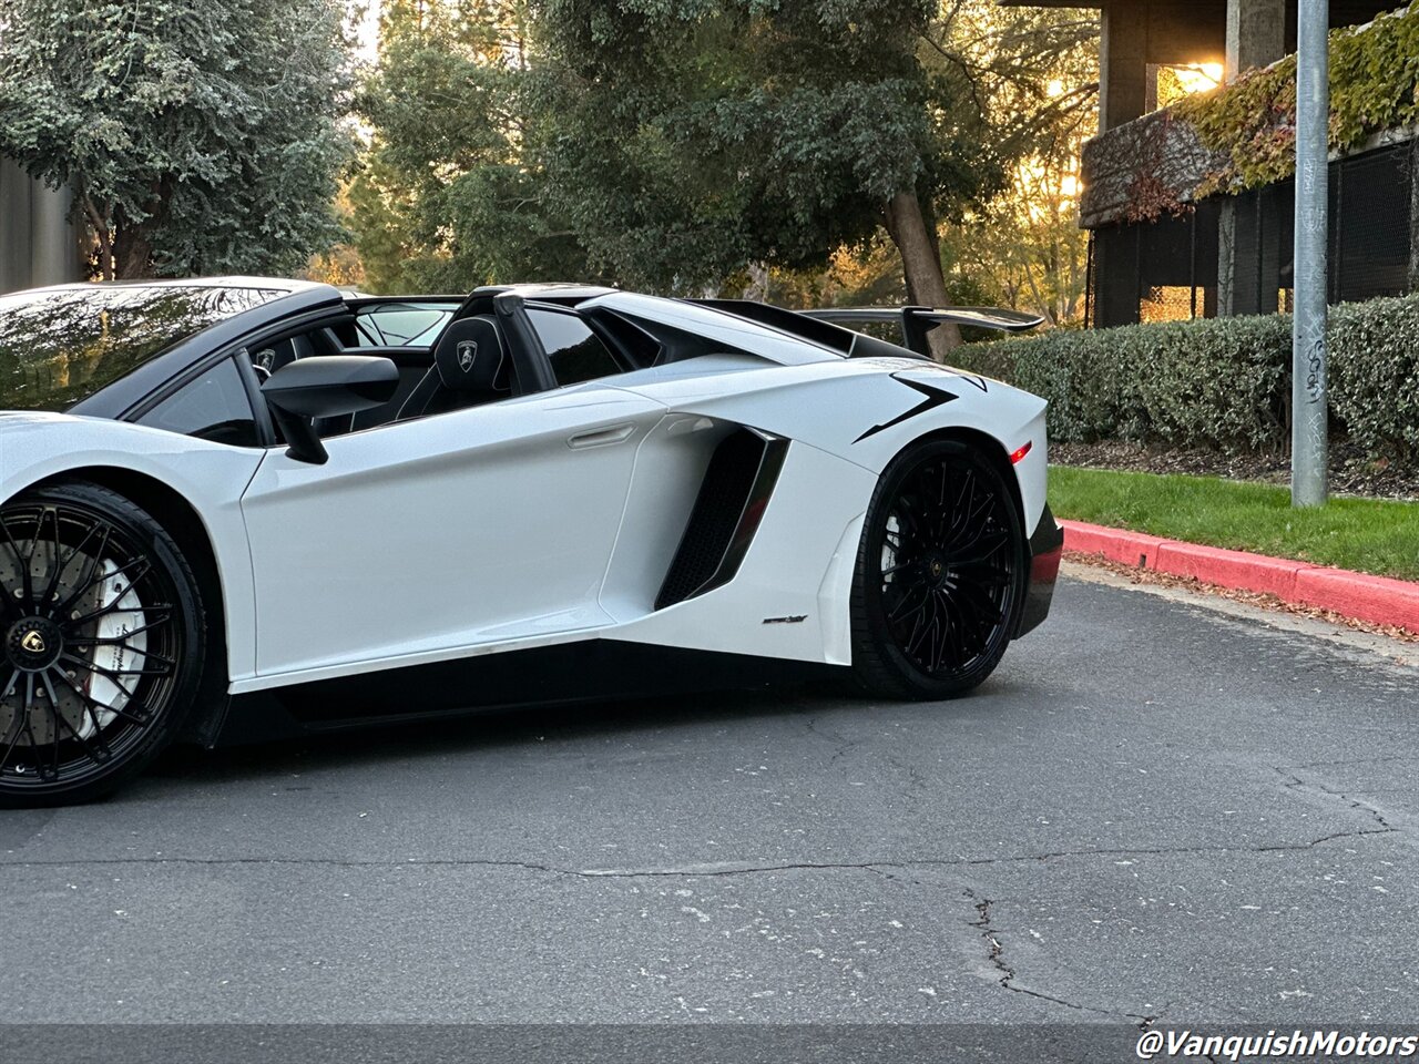
M881 602L902 655L928 677L971 672L1000 648L1020 565L1013 502L969 458L928 458L881 526Z

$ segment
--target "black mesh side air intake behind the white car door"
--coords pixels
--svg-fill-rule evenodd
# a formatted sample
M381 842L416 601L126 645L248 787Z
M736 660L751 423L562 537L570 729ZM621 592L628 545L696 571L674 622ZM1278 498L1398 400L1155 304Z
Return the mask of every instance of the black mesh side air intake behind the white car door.
M741 428L715 447L690 523L656 597L663 610L735 577L763 519L789 441Z

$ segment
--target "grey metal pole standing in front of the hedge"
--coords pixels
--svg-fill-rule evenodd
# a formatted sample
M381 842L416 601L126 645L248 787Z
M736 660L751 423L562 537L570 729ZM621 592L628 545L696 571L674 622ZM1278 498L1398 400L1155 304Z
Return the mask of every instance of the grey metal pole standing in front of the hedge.
M1291 338L1291 505L1325 504L1330 0L1300 0L1296 87L1296 326Z

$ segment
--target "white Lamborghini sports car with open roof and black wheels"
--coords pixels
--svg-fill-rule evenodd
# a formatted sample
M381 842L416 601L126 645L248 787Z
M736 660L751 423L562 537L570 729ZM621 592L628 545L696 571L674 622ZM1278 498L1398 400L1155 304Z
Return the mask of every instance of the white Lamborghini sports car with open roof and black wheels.
M521 285L0 297L0 804L207 746L839 670L989 675L1050 603L1044 401L833 323Z

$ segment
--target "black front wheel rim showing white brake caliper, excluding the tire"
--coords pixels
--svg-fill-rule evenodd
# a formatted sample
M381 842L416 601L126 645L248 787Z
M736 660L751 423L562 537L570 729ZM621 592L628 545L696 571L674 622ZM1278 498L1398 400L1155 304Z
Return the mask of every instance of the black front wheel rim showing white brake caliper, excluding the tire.
M166 569L104 514L0 511L0 786L104 775L173 698L183 653Z

